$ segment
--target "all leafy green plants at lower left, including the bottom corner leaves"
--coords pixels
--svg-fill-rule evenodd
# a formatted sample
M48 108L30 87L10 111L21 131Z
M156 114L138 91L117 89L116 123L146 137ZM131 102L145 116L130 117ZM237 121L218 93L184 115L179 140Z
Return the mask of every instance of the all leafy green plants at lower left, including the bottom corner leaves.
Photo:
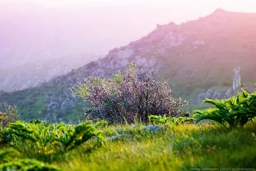
M0 152L0 170L60 170L45 162L51 163L54 157L65 155L85 142L90 142L88 150L101 146L105 139L97 128L106 124L106 121L95 124L86 121L76 126L40 120L10 123L0 132L0 149L11 149Z

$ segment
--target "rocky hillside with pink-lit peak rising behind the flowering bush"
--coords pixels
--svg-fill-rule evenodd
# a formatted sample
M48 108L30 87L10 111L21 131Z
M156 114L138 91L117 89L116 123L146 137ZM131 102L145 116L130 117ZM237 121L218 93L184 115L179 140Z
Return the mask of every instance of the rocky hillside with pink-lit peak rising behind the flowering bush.
M25 119L73 120L77 117L73 109L85 104L72 96L68 88L90 75L110 77L123 71L129 61L143 68L155 68L159 79L167 79L172 85L175 96L191 99L192 103L200 101L196 100L198 94L201 99L207 92L214 96L216 90L230 96L227 93L233 68L241 67L242 80L256 82L255 29L256 14L222 9L180 25L157 25L147 36L114 48L100 60L39 87L3 92L0 99L17 104Z

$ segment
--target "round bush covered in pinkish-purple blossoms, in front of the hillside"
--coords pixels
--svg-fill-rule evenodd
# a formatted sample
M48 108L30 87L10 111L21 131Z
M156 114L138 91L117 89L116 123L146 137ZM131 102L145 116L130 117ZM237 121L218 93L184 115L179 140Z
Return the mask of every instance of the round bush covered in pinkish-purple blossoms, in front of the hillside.
M146 123L151 114L180 116L182 107L188 104L181 98L173 98L166 81L156 81L153 70L139 70L133 63L124 75L114 74L112 80L84 78L84 83L71 90L90 103L84 109L87 119L110 123L130 123L134 119Z

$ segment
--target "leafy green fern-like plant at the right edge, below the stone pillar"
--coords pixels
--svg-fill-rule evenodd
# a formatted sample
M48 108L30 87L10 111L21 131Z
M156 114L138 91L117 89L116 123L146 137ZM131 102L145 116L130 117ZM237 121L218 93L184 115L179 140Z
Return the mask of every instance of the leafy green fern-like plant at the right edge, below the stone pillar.
M242 93L238 92L237 97L225 100L206 99L204 102L211 103L216 108L195 110L197 122L209 119L229 127L238 127L256 117L256 93L249 94L243 89Z

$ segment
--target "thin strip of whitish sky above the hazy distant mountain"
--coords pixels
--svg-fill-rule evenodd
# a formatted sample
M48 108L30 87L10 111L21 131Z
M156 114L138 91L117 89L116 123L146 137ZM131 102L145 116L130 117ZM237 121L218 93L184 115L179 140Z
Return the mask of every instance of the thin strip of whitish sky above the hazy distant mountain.
M31 0L53 6L170 6L176 8L212 10L224 8L231 11L256 12L255 0ZM204 9L203 9L204 8Z

